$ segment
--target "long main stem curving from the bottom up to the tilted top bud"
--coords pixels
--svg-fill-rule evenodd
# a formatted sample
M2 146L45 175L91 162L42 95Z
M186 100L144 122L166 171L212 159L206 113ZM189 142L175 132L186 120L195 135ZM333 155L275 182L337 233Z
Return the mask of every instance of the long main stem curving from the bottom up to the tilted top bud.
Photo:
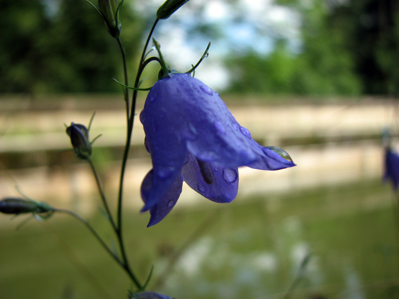
M139 62L139 69L137 71L137 75L136 75L136 81L134 84L134 87L138 87L139 82L140 82L140 76L143 72L143 61L144 61L144 57L146 55L146 50L151 38L151 35L154 32L155 26L157 25L159 19L156 19L151 30L150 33L147 37L147 41L144 45L144 49L143 49L143 53L141 55L140 58L140 62ZM130 117L128 120L128 126L127 126L127 136L126 136L126 146L123 152L123 157L122 157L122 166L121 166L121 176L120 176L120 180L119 180L119 194L118 194L118 211L117 211L117 227L116 227L116 233L118 235L118 241L119 241L119 247L121 249L121 255L122 255L122 259L123 259L123 264L124 264L124 269L126 270L126 272L128 272L130 278L132 279L132 281L134 282L134 284L136 285L136 287L139 290L143 289L143 286L140 284L140 282L136 279L136 277L133 275L132 270L130 269L129 266L129 262L127 259L127 255L126 255L126 251L125 251L125 245L124 245L124 241L123 241L123 234L122 234L122 199L123 199L123 181L124 181L124 176L125 176L125 169L126 169L126 163L127 163L127 159L128 159L128 155L129 155L129 149L130 149L130 143L131 143L131 138L132 138L132 133L133 133L133 122L134 122L134 115L135 115L135 110L136 110L136 102L137 102L137 95L138 92L137 90L133 91L133 98L132 98L132 107L131 107L131 111L130 111ZM129 112L127 112L129 114Z

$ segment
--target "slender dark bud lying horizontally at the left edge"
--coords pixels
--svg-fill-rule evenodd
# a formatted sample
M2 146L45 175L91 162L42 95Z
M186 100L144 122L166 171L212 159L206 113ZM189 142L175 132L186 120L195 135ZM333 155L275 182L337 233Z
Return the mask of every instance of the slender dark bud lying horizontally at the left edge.
M7 197L0 201L0 212L4 214L46 213L51 210L47 203L19 197Z

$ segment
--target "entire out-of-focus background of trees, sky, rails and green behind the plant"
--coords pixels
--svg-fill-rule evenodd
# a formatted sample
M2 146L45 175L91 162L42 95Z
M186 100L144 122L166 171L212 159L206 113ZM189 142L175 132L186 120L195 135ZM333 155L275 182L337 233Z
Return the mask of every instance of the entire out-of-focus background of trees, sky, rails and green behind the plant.
M162 3L123 5L131 82ZM297 166L240 168L228 205L185 185L147 229L139 188L151 160L136 118L124 228L139 279L154 265L149 289L180 299L399 298L399 214L382 182L381 143L384 128L394 147L399 132L399 3L191 0L154 37L181 72L211 41L195 76L259 144L285 149ZM64 124L87 126L96 112L93 161L115 211L126 112L112 78L123 80L118 44L86 1L0 0L0 197L18 196L17 185L81 214L110 244L94 178L65 150ZM133 286L80 223L54 215L17 230L25 218L0 216L0 299L127 298Z

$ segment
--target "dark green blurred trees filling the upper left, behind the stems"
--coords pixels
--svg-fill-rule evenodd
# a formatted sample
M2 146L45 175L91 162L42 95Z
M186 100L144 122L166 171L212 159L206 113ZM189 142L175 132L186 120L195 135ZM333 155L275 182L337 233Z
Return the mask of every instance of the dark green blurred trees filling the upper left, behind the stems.
M89 3L62 0L53 15L40 0L0 0L0 6L0 92L120 90L112 80L123 78L118 44ZM133 60L143 25L128 5L122 21Z

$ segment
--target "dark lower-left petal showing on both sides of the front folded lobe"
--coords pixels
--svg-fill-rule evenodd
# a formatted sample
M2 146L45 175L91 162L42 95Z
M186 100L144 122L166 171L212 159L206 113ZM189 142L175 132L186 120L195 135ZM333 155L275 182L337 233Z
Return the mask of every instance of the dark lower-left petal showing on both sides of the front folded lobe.
M141 197L143 198L145 204L147 203L148 196L153 189L153 182L153 170L150 170L141 185ZM173 207L179 199L180 193L182 193L182 187L183 176L182 174L180 174L176 177L166 195L164 195L161 200L159 200L155 205L150 208L151 217L147 227L157 224L162 219L164 219L170 211L172 211Z

